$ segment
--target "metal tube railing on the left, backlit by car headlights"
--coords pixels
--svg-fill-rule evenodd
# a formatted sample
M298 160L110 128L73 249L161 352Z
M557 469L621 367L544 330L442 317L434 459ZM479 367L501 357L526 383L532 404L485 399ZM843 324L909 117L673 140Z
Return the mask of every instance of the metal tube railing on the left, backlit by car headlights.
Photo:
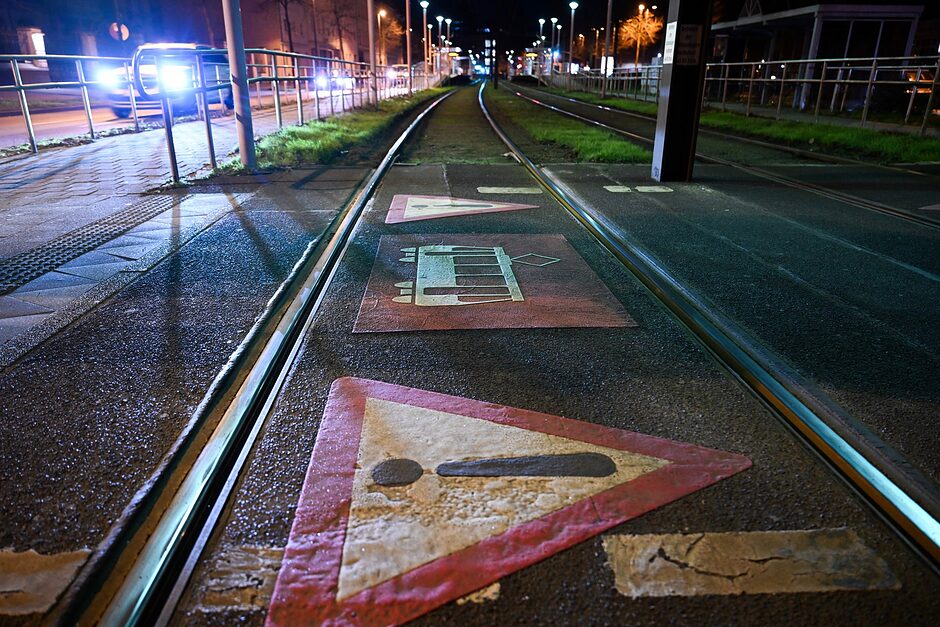
M399 96L408 91L410 72L414 89L433 87L443 73L425 72L424 64L411 68L377 66L373 77L369 66L355 61L266 50L247 49L248 83L257 108L273 107L277 127L283 128L285 105L294 105L297 123L320 120L351 108ZM8 84L0 93L15 92L30 149L39 144L30 114L28 94L37 90L78 89L87 118L88 134L96 138L91 90L107 94L118 117L133 121L141 131L142 110L159 109L166 132L167 152L173 180L179 180L173 121L181 115L198 114L205 122L209 161L217 167L212 135L212 105L225 115L232 108L232 85L225 50L194 46L144 46L133 59L78 55L0 55L0 65L9 67ZM442 64L443 66L443 64ZM22 68L41 69L48 80L24 81ZM56 79L56 80L53 80ZM311 117L312 115L312 117Z

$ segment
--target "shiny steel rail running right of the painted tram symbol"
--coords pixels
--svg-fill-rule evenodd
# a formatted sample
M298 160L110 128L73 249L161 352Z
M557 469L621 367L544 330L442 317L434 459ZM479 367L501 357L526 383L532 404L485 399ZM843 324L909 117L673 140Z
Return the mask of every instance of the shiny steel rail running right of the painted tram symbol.
M819 399L807 397L804 382L787 376L754 350L752 343L742 341L745 334L733 323L712 312L642 247L618 233L614 225L576 199L559 181L543 173L493 119L483 102L484 86L478 94L483 114L529 174L623 263L751 394L841 471L849 484L867 497L868 502L877 507L876 511L880 510L935 572L940 571L940 521L820 418L814 410Z

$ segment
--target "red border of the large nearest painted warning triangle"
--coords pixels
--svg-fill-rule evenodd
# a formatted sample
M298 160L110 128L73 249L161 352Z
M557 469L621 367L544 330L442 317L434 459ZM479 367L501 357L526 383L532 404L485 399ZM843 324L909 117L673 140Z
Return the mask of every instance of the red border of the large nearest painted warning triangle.
M339 599L370 399L668 463ZM741 455L588 422L379 381L338 379L317 434L267 624L401 624L750 465Z

